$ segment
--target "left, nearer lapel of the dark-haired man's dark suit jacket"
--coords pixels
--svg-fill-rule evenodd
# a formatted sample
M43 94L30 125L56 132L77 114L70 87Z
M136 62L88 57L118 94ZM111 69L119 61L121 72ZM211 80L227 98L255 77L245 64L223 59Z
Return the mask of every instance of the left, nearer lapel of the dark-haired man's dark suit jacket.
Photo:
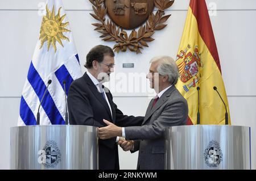
M112 117L111 116L111 112L109 110L109 105L106 102L106 100L102 97L102 94L98 91L96 85L94 85L94 83L92 82L92 80L89 78L89 76L86 73L84 74L84 78L86 80L86 83L89 85L90 91L93 92L94 96L96 96L96 98L100 101L100 103L106 108L106 110L109 113L110 117Z

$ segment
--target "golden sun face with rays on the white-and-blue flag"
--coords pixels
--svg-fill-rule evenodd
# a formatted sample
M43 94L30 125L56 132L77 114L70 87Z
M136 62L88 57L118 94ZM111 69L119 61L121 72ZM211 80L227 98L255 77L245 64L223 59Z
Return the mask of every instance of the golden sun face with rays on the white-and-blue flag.
M46 16L43 16L42 26L40 29L40 37L39 40L41 40L41 46L40 49L43 47L44 42L47 41L47 48L49 51L50 45L54 48L56 52L56 40L59 42L59 44L63 47L63 44L61 42L62 40L68 40L68 37L63 35L63 32L70 32L70 30L66 29L65 27L68 26L68 22L62 23L66 14L60 17L60 9L58 11L58 14L55 16L55 9L54 6L52 7L52 11L48 9L48 6L46 5Z

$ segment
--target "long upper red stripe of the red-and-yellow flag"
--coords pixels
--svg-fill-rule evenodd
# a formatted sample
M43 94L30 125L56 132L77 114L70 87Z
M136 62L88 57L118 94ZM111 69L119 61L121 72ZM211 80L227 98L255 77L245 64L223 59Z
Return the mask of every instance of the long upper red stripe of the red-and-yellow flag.
M210 17L205 0L190 0L193 15L196 17L199 33L207 45L210 54L214 58L218 69L221 73L220 58L218 57L218 50L213 35L212 24L210 24Z

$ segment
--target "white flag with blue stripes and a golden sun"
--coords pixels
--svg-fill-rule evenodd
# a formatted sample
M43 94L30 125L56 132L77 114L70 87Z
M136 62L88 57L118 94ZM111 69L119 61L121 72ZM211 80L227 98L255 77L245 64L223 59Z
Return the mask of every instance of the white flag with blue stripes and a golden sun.
M40 124L65 123L65 94L74 79L82 76L71 28L61 0L49 0L20 99L18 125L35 125L40 107ZM66 81L64 92L63 81Z

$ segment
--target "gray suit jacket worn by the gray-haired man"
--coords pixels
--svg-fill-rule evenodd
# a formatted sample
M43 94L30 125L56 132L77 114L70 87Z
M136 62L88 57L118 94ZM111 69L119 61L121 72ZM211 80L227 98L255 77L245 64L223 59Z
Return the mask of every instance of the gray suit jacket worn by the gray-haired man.
M137 169L164 169L164 131L166 127L185 125L187 122L187 100L174 85L152 108L153 102L154 99L148 105L141 127L125 128L126 140L136 140L134 151L139 150Z

